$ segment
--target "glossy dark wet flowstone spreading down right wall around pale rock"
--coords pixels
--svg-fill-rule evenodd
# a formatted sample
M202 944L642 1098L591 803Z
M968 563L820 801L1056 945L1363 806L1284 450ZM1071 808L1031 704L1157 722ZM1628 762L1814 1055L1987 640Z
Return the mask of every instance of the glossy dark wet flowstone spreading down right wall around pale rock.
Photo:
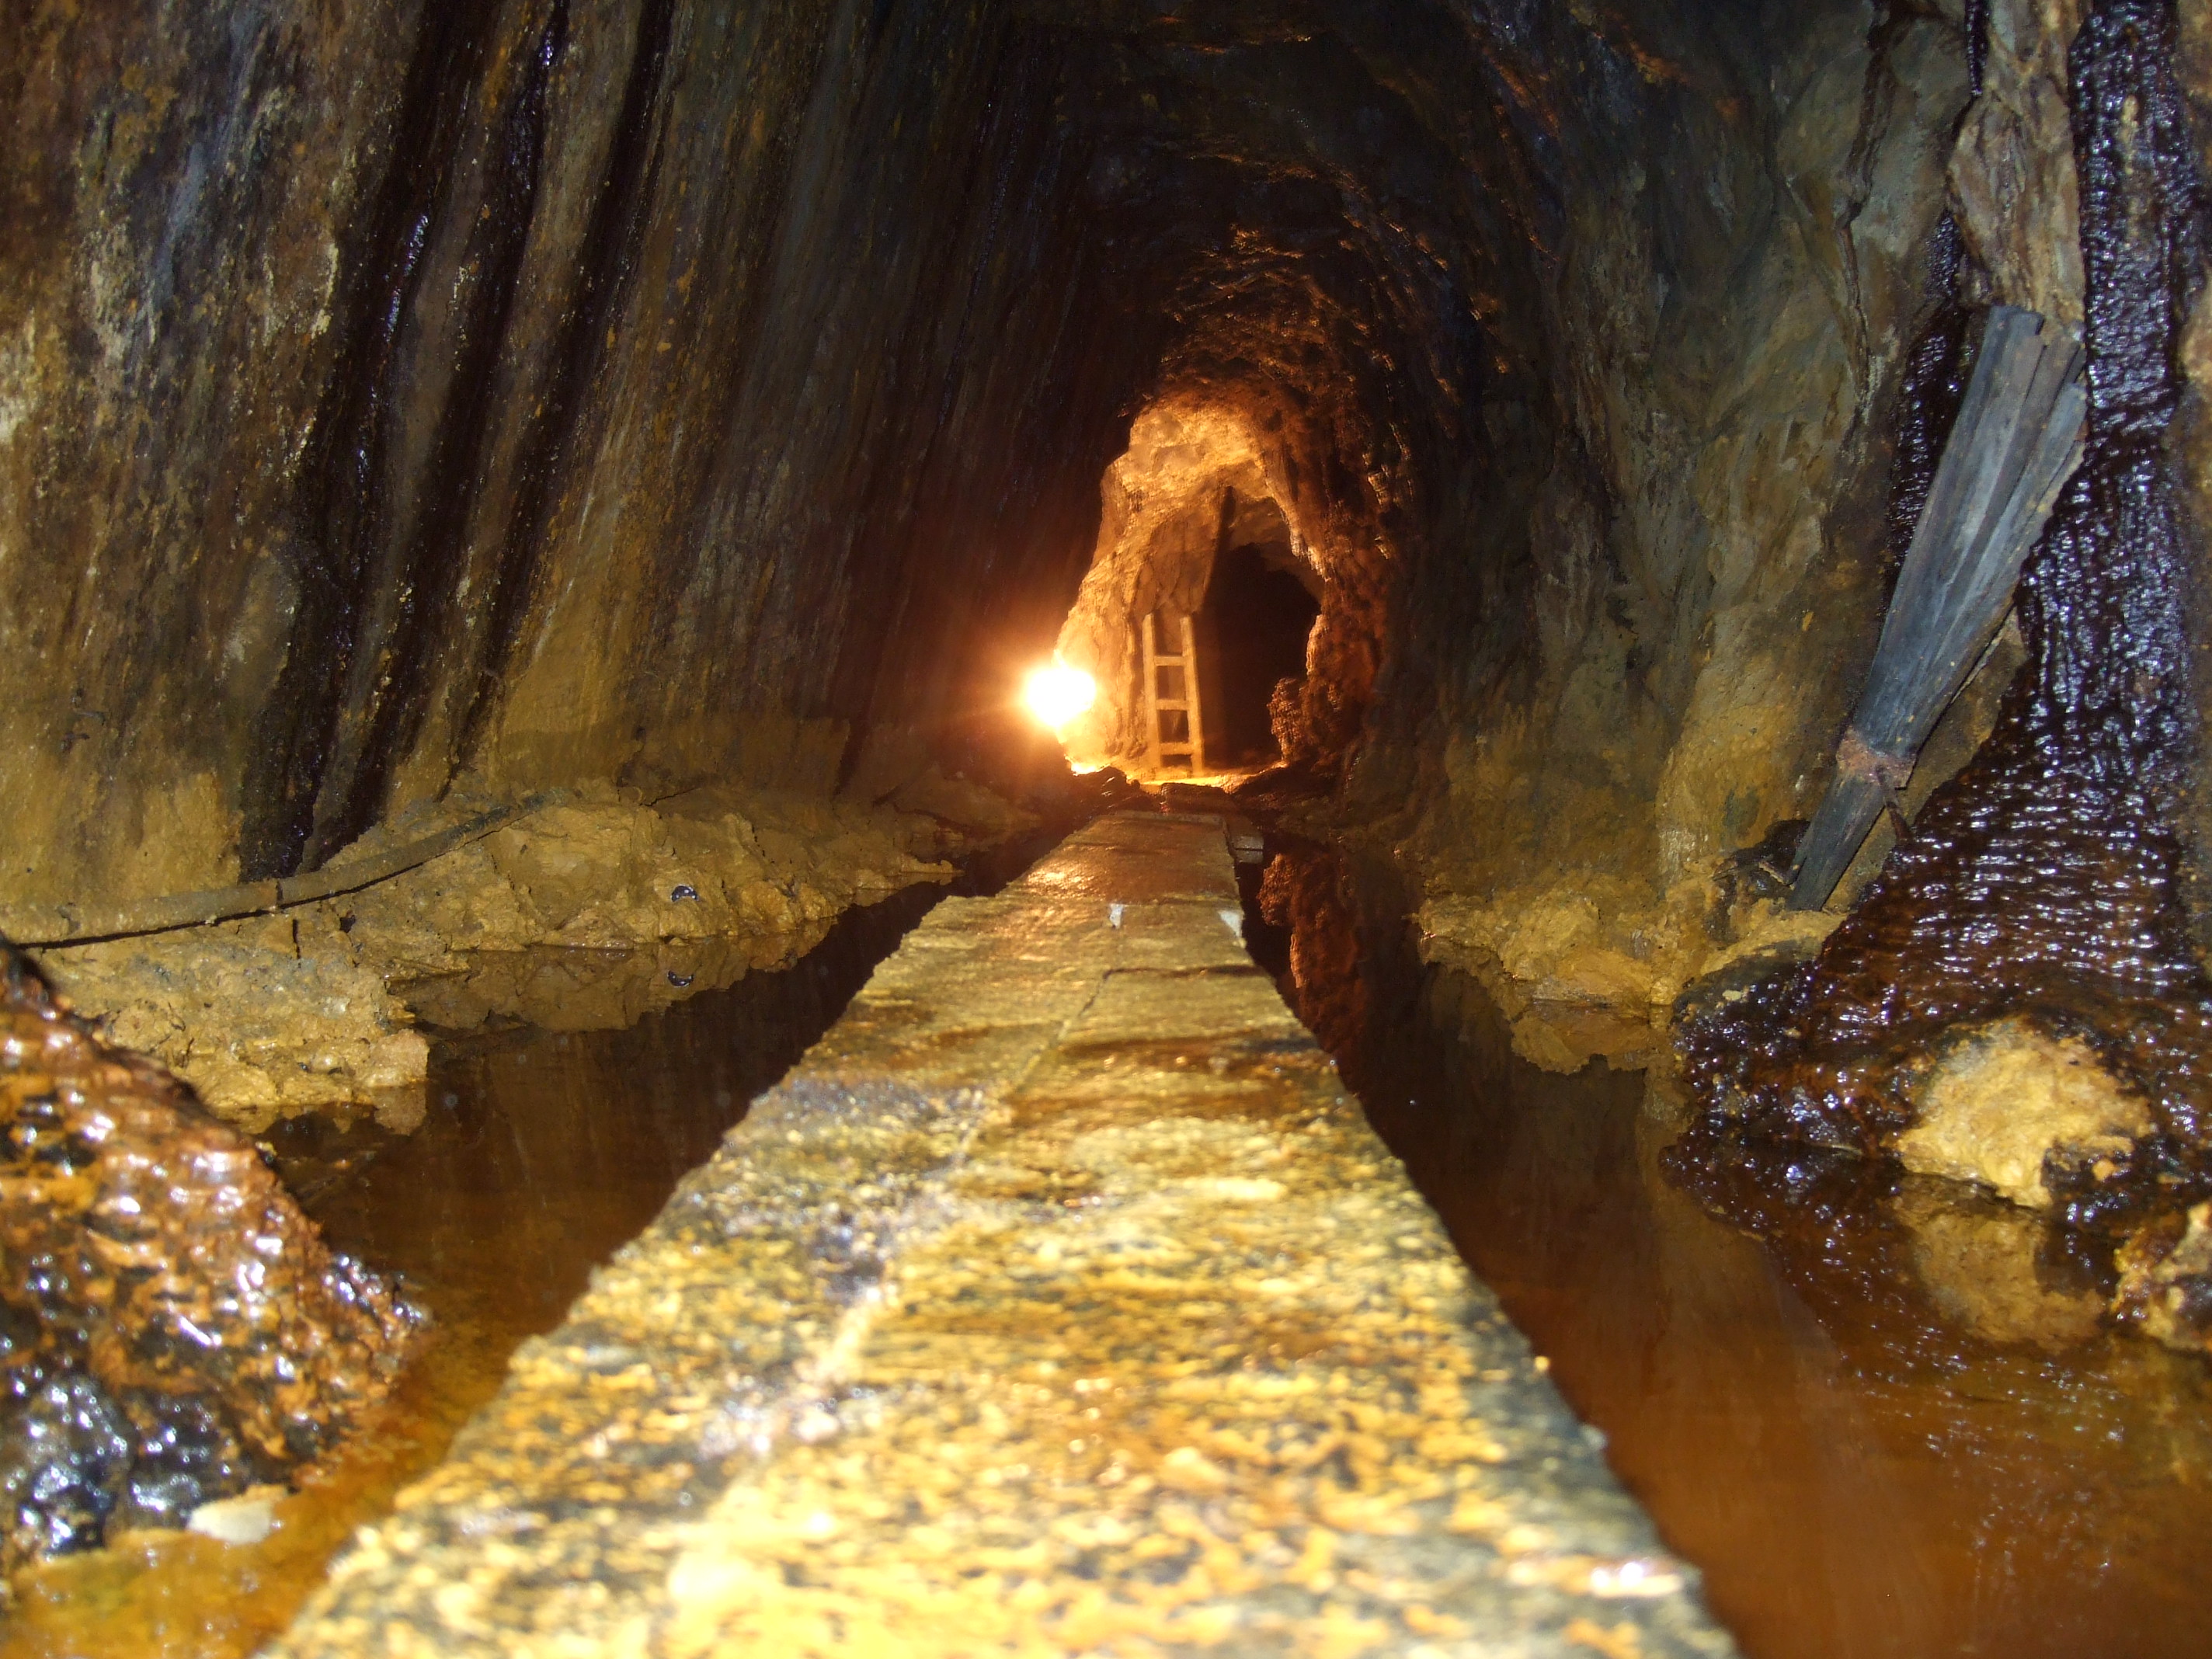
M1759 1137L1905 1150L2020 1201L2055 1197L2104 1254L2212 1190L2212 980L2181 836L2194 544L2166 442L2205 195L2174 49L2170 9L2110 0L2068 60L2090 422L2020 586L2028 661L1820 956L1686 1026L1712 1108L1692 1155L1714 1166ZM1975 1091L1938 1053L2000 1018L2033 1029L2011 1044L2022 1062L2070 1060L2033 1088L2013 1075L1962 1135L1953 1108ZM2011 1144L2064 1099L2042 1110L2042 1144Z

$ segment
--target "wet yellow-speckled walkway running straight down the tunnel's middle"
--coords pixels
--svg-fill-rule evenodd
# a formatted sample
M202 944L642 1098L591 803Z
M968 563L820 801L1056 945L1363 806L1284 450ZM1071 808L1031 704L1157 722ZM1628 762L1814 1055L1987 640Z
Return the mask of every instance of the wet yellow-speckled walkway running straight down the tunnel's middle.
M1239 929L938 905L272 1652L1734 1652Z

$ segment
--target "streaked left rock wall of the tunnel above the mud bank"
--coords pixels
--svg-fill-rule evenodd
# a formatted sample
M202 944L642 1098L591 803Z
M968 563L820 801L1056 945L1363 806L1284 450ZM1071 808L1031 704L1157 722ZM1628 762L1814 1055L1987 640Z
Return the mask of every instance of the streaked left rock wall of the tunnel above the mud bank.
M0 898L456 781L825 787L1046 648L1115 307L1000 7L86 0L7 58Z

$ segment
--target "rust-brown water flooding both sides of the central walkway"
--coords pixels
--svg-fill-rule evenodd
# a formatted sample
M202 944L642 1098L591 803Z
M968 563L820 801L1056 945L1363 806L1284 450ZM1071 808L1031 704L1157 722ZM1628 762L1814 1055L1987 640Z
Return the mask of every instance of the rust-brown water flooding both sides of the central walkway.
M1254 956L1752 1659L2212 1648L2212 1383L2084 1321L2093 1270L2002 1206L1865 1170L1783 1168L1717 1217L1670 1179L1644 1075L1515 1060L1480 991L1354 922L1334 869L1305 887L1336 902L1301 909L1296 951L1254 907ZM0 1659L228 1659L281 1630L938 896L628 1031L447 1042L411 1137L290 1126L279 1159L332 1243L429 1307L422 1358L263 1544L53 1562Z

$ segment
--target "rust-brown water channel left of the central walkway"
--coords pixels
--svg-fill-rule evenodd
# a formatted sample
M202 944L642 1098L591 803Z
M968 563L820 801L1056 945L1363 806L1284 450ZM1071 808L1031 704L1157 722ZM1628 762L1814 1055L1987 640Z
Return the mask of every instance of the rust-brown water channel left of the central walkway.
M354 1526L445 1453L522 1338L553 1329L858 991L942 889L854 911L803 962L628 1031L507 1031L431 1057L414 1135L299 1119L270 1144L338 1250L431 1314L394 1400L276 1504L250 1546L148 1531L18 1579L0 1659L239 1659L290 1624Z

